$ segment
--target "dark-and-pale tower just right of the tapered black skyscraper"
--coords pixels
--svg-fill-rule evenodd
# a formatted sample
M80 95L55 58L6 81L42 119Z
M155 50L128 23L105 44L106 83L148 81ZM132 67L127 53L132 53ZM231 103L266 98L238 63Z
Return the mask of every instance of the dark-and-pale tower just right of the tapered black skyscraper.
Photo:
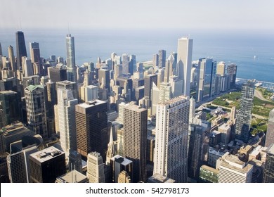
M30 42L30 59L33 65L34 75L43 76L43 67L40 61L40 49L38 42Z

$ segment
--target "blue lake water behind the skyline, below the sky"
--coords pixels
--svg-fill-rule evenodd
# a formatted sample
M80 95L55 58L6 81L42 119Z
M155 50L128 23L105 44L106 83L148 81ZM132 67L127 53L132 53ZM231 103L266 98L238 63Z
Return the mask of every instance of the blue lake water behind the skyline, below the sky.
M22 30L27 51L29 42L39 42L44 58L66 56L67 30ZM212 57L215 61L236 63L237 77L274 82L274 36L268 32L209 32L202 30L74 30L76 61L96 62L110 58L110 53L135 54L137 61L150 61L159 49L167 56L177 51L177 39L190 34L194 39L193 61ZM4 55L8 45L15 49L15 30L0 30ZM30 54L30 52L28 52ZM256 56L256 58L254 58Z

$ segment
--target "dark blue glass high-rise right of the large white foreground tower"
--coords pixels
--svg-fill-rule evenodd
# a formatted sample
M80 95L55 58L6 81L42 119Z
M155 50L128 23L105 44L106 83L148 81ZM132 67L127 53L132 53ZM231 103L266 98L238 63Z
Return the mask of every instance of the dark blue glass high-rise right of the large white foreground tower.
M188 148L188 177L198 180L200 167L207 163L210 123L193 118L190 124Z

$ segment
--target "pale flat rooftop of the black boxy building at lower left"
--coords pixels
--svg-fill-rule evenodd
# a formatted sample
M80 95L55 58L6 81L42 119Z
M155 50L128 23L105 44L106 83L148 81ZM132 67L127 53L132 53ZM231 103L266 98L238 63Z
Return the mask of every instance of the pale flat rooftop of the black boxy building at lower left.
M51 146L41 151L37 151L35 153L30 154L30 157L36 159L40 163L44 163L47 160L51 160L52 158L55 158L56 156L62 155L62 154L65 154L65 153L55 148L54 146Z

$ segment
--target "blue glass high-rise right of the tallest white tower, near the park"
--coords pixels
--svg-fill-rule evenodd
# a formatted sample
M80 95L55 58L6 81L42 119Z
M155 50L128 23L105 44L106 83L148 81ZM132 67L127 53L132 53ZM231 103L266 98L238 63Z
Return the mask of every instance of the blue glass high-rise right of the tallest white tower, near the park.
M201 58L198 63L197 101L214 96L216 80L216 61Z

